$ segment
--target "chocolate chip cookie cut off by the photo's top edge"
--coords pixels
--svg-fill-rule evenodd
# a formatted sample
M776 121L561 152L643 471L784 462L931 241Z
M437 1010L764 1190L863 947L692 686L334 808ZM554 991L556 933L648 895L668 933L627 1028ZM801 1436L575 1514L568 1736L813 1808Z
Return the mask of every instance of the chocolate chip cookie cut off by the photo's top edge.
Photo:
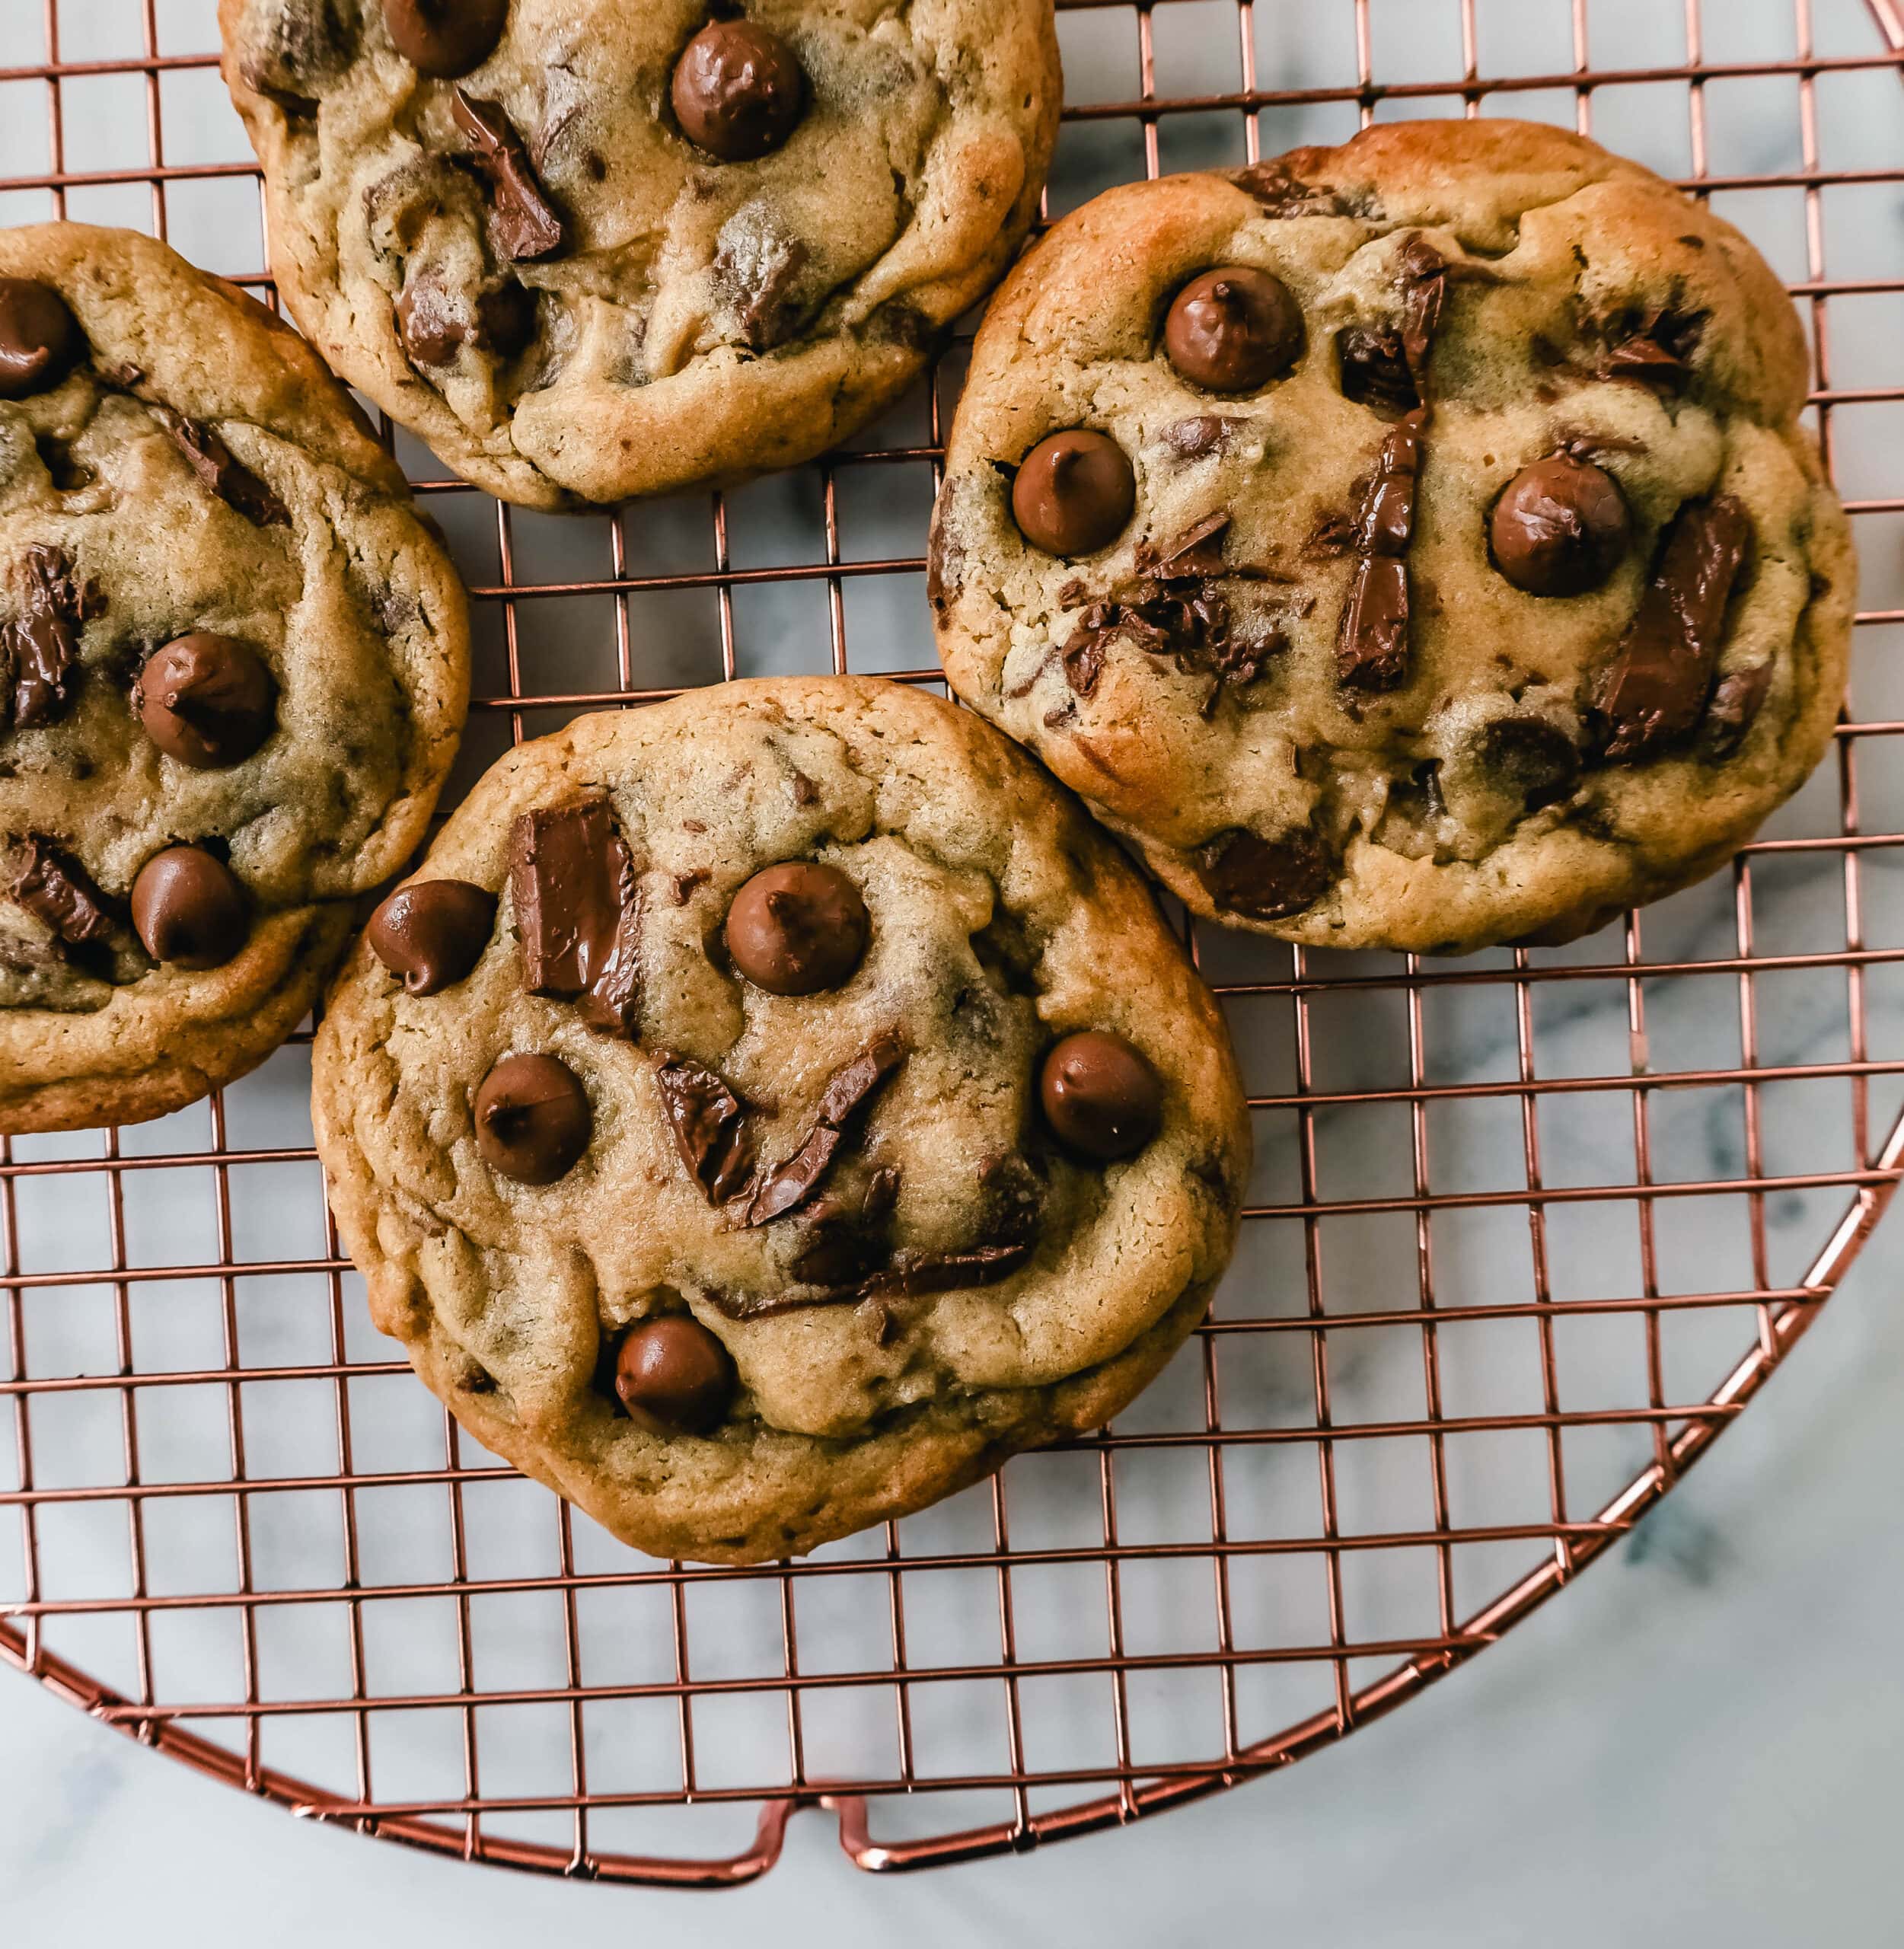
M793 466L1009 263L1052 0L220 0L279 288L530 507Z

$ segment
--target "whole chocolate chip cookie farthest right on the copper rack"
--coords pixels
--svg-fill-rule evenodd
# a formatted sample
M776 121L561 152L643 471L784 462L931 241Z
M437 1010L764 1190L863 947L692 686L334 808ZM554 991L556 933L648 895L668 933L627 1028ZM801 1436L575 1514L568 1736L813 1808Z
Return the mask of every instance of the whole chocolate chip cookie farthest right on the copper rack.
M1752 246L1557 129L1117 189L978 333L945 670L1199 914L1567 939L1828 745L1853 561L1805 392Z

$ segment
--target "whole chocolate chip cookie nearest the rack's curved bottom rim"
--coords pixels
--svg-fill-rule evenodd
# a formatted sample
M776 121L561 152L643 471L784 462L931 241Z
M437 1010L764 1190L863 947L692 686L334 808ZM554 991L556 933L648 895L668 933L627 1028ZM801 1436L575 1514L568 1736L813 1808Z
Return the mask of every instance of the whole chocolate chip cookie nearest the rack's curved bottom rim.
M811 1549L1117 1413L1249 1128L1142 881L972 713L741 682L503 758L331 990L378 1325L661 1555Z

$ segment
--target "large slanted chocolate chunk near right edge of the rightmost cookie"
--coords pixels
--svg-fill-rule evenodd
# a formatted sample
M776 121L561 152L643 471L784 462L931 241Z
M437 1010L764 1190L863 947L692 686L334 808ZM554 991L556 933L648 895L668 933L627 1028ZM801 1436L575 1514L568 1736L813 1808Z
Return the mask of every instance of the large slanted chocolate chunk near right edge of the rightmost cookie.
M1752 557L1752 516L1731 495L1684 507L1594 704L1610 762L1653 756L1705 713L1725 612Z

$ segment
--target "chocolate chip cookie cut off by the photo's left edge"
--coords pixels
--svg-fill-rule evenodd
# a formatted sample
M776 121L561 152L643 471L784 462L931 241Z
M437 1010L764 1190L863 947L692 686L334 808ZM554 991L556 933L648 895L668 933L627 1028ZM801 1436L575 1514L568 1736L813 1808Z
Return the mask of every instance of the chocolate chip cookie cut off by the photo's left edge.
M466 696L456 573L294 331L150 238L0 232L0 1130L263 1060Z

